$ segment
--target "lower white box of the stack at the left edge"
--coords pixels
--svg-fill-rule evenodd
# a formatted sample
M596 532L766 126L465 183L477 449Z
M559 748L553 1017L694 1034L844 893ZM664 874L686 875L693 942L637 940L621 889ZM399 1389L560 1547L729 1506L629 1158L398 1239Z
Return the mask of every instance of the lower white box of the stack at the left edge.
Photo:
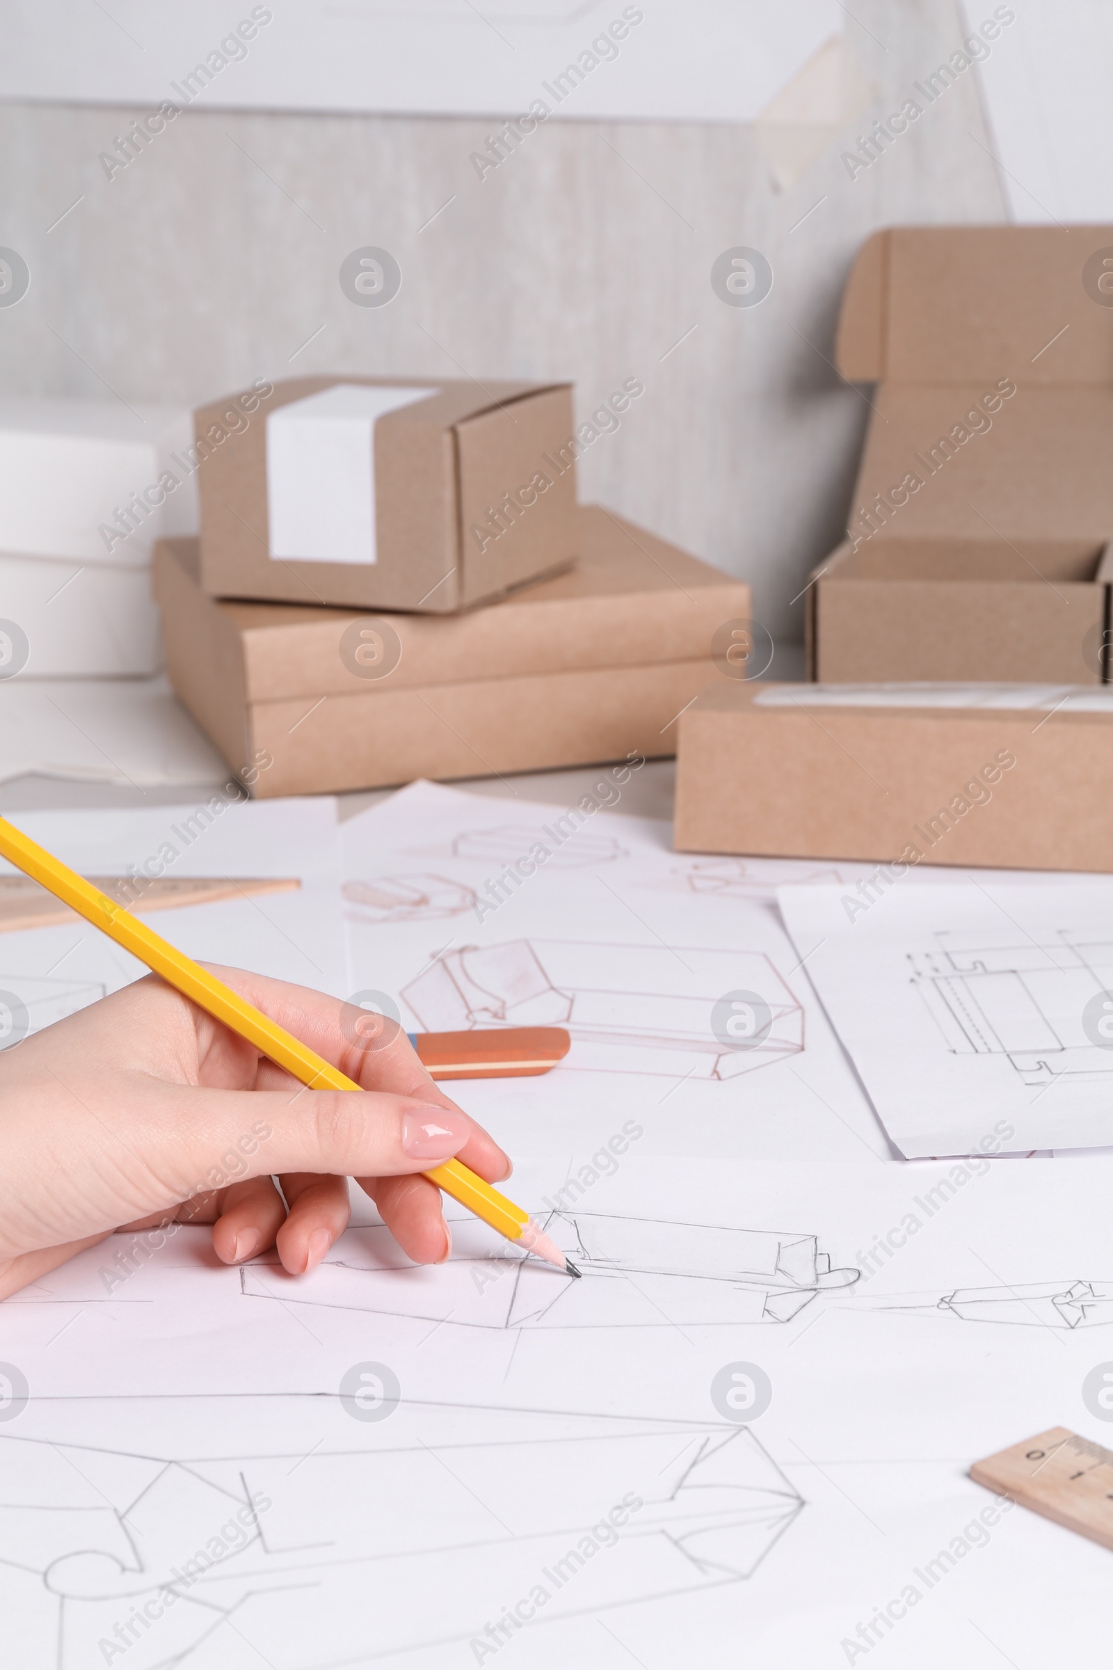
M0 678L130 678L159 670L150 569L0 553Z

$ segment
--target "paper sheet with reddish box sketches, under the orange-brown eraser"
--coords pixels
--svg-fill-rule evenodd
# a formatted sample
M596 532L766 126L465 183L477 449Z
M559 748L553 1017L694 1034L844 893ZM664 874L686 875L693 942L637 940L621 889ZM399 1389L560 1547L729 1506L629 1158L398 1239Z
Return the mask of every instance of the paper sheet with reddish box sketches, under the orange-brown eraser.
M419 1032L567 1025L546 1077L452 1087L517 1154L587 1157L631 1116L662 1154L889 1154L773 898L868 867L674 853L597 782L609 812L414 783L344 823L354 994ZM766 1004L754 1047L716 1012L739 990Z

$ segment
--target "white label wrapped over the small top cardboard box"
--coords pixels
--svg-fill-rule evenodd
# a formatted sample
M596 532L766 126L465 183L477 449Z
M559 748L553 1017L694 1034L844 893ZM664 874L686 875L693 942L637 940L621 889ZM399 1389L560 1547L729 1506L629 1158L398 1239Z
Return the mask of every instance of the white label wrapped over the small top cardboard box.
M337 382L267 414L270 556L374 563L375 423L439 389Z

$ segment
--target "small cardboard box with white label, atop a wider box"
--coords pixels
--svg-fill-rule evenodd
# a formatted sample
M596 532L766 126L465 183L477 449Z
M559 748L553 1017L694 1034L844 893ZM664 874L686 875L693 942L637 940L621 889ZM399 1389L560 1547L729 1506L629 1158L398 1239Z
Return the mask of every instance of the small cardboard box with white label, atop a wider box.
M210 596L449 615L576 556L567 384L259 379L195 433Z

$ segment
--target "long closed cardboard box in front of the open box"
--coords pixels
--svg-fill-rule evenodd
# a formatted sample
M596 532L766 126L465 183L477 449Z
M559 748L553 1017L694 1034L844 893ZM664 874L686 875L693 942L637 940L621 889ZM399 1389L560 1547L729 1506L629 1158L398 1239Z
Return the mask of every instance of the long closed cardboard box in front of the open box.
M721 681L679 721L676 847L1113 870L1113 691L1065 696Z

